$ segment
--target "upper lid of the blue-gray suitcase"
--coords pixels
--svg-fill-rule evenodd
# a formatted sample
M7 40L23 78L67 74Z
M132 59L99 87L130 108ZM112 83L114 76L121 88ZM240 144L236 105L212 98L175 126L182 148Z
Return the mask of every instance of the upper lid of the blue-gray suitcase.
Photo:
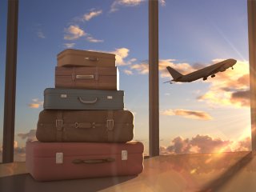
M54 95L54 94L66 94L66 95L119 95L123 96L123 90L84 90L84 89L61 89L61 88L46 88L44 90L44 95Z

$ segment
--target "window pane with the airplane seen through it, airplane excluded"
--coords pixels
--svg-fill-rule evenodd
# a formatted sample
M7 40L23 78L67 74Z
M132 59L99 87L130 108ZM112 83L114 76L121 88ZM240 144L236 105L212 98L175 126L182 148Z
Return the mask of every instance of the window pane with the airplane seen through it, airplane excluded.
M159 41L161 154L250 150L246 1L166 1ZM234 70L206 81L162 83L166 66L189 74L228 58Z

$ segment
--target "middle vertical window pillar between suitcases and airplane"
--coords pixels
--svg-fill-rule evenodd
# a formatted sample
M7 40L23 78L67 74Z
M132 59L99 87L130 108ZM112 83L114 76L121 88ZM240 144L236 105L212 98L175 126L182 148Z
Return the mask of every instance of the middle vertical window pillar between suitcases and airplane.
M150 157L159 155L158 0L149 1Z

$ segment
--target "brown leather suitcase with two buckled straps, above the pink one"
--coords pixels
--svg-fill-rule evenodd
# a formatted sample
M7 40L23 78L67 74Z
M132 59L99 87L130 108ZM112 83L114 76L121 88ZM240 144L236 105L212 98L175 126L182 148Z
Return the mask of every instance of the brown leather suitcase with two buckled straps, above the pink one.
M134 115L128 110L42 110L40 142L129 142Z

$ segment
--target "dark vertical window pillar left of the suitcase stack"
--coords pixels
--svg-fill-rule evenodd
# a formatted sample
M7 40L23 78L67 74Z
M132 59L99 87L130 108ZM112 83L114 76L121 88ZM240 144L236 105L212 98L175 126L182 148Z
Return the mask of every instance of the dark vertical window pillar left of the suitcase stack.
M18 0L9 0L6 35L6 87L3 119L2 162L14 162L17 40Z

